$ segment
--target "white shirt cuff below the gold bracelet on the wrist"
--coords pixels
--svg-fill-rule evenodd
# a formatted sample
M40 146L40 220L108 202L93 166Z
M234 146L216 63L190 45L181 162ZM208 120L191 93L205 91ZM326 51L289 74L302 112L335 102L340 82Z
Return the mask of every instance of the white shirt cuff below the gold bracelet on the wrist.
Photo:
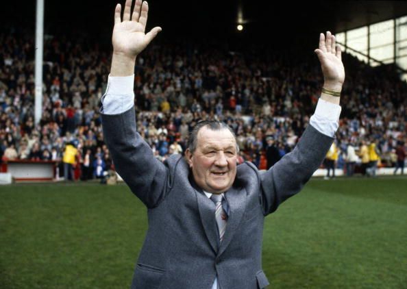
M321 134L333 138L339 127L341 110L341 105L319 99L314 115L310 118L310 125L321 132Z

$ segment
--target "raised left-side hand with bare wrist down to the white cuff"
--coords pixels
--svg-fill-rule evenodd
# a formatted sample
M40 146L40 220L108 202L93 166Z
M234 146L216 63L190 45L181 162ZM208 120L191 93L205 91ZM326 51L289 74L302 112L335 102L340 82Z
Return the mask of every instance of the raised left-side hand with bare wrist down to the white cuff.
M145 34L149 5L147 1L142 3L142 0L136 0L132 12L132 3L132 0L126 0L123 21L121 19L121 5L117 4L114 10L113 58L110 76L132 75L136 56L161 31L161 27L154 27Z

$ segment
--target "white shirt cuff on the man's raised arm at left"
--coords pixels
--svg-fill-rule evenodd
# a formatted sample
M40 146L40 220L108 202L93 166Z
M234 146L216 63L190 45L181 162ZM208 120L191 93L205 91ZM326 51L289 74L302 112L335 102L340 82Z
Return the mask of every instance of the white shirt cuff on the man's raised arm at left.
M106 93L101 98L103 114L121 114L134 105L134 75L109 76Z

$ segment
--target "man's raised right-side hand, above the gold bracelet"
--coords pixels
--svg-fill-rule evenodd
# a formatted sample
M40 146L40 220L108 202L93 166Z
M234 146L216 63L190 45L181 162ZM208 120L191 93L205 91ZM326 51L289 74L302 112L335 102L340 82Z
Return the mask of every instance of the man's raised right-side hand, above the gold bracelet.
M319 48L314 51L317 53L321 63L324 88L341 91L343 81L345 81L345 68L341 58L341 47L336 46L335 36L331 32L326 33L326 39L323 33L319 35Z

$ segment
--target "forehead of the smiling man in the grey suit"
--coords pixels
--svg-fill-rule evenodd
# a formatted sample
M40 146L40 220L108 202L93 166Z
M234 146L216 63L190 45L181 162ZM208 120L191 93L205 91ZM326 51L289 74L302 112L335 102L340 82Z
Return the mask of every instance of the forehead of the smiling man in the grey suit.
M208 127L199 129L197 147L229 147L236 146L236 140L229 129L212 130Z

